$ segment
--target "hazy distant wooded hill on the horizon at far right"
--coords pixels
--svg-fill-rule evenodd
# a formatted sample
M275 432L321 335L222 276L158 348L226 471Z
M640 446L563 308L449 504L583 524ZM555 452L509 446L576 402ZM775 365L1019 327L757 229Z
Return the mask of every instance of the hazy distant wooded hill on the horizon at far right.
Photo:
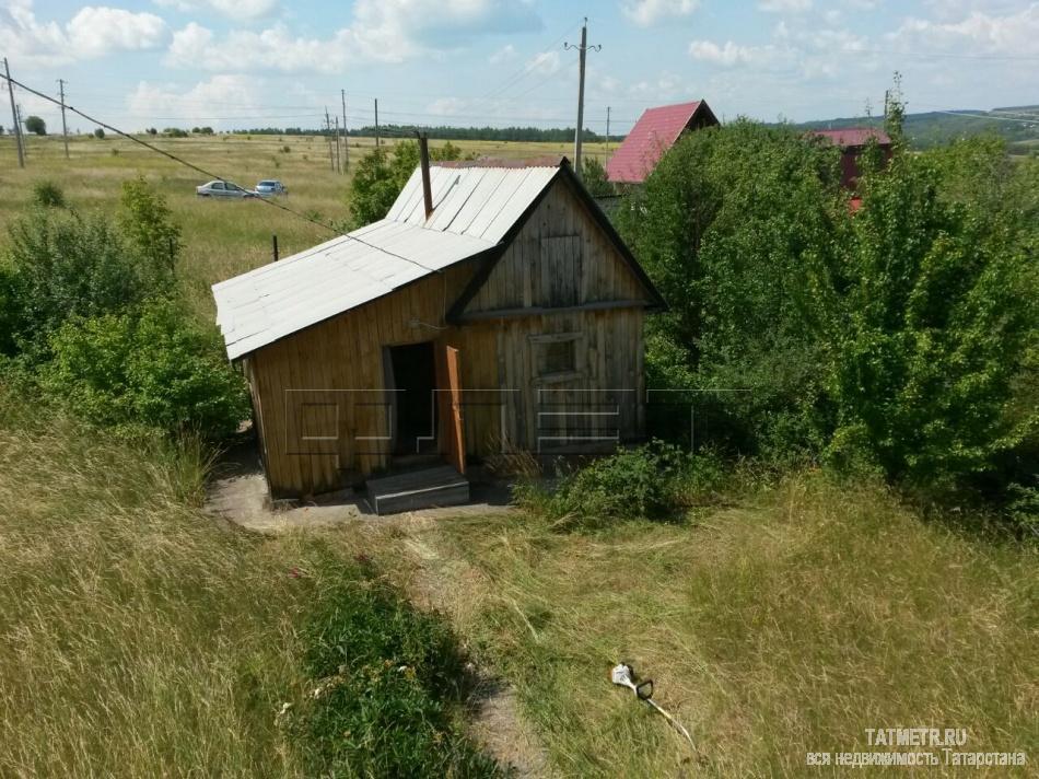
M805 130L843 129L845 127L879 127L879 117L855 116L840 119L804 121L793 125ZM1009 144L1011 153L1039 151L1039 105L1011 106L992 111L952 111L908 114L906 135L917 149L947 143L958 138L981 133L997 135Z

